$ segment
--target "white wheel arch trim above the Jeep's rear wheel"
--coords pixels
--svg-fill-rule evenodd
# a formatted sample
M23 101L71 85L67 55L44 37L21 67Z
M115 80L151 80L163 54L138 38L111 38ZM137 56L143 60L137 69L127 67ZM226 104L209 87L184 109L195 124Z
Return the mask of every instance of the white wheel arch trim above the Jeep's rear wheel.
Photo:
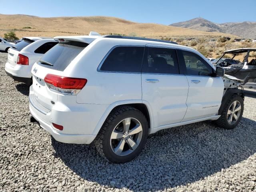
M102 125L104 124L106 118L108 117L108 115L115 108L120 107L120 106L124 106L124 105L136 108L137 110L140 110L144 114L144 116L148 120L148 128L149 128L149 134L150 134L152 132L152 128L153 128L153 116L152 116L151 108L148 104L142 103L141 100L118 101L118 102L114 102L113 104L110 104L110 106L108 106L108 108L106 109L106 111L104 112L102 117L100 118L100 120L99 120L96 128L92 132L92 134L97 135L98 132L100 131Z

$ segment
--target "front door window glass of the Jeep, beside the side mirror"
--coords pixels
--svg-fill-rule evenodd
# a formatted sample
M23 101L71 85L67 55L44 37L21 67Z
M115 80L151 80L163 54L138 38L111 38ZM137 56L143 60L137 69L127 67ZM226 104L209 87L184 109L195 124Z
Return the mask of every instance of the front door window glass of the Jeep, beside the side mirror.
M198 54L182 50L182 59L186 65L186 74L212 76L212 67Z

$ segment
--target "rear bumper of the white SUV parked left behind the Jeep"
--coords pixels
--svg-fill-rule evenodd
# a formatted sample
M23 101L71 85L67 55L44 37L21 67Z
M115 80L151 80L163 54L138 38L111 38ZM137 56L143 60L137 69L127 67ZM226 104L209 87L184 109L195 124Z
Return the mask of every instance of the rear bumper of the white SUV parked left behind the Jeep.
M6 74L13 78L15 81L23 82L28 85L32 83L30 66L16 65L13 67L10 63L6 62L4 70Z

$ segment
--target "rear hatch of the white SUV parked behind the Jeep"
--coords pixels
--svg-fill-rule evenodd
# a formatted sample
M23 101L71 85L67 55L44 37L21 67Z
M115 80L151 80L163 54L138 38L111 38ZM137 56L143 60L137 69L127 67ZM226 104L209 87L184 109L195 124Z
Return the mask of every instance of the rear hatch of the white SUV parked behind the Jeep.
M17 59L18 59L18 54L20 53L20 51L28 46L29 44L31 44L32 42L34 42L34 40L30 40L28 38L24 38L21 42L18 42L17 44L14 44L9 50L8 50L8 63L10 63L10 65L12 67L14 67L17 63Z

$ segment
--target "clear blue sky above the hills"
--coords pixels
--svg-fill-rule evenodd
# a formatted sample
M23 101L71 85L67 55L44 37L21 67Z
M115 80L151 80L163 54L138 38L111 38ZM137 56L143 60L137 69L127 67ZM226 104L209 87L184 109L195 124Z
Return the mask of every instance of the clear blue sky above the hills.
M256 0L1 0L1 14L113 16L171 24L202 17L216 23L256 21Z

